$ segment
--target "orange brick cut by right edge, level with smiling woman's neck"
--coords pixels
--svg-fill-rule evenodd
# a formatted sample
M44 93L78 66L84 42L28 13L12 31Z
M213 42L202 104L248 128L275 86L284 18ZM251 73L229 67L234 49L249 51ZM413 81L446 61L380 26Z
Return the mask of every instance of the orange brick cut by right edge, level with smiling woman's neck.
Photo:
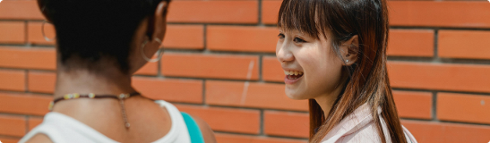
M490 124L490 97L437 93L437 119ZM490 134L489 134L490 135Z

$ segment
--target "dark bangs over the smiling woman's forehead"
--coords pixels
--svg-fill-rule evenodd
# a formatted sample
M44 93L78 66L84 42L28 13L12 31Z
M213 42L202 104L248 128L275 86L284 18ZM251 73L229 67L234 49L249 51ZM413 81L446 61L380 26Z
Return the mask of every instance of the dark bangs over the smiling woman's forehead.
M323 31L316 13L318 4L314 0L284 0L280 5L278 28L284 30L298 30L313 38L319 38ZM315 18L316 17L316 18Z

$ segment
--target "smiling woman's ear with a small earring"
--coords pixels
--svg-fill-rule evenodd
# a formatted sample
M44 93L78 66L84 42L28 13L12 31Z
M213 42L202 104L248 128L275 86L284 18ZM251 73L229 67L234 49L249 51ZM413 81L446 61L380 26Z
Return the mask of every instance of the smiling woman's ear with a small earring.
M357 54L359 53L359 38L357 35L343 42L340 46L340 55L344 60L344 65L350 66L357 62Z

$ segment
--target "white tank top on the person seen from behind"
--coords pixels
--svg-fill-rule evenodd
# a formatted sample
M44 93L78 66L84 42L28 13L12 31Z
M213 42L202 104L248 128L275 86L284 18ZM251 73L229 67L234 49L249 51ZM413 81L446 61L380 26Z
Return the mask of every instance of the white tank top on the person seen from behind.
M177 110L176 106L163 101L157 100L155 103L161 107L165 107L170 114L172 127L167 135L155 140L155 143L190 143L189 132L185 125L182 114ZM55 143L116 143L114 139L109 139L97 130L73 119L70 116L50 112L44 116L44 121L36 128L30 130L19 142L24 143L36 134L45 134Z

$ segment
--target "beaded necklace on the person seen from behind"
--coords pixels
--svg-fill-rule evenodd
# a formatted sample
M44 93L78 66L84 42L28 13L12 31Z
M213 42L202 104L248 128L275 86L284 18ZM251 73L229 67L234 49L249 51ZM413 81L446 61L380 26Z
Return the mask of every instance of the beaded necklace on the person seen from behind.
M130 94L122 93L119 96L116 96L116 95L98 95L98 96L96 96L93 93L82 94L82 95L81 94L78 94L78 93L72 93L72 94L66 94L63 97L58 97L55 100L51 101L51 103L49 103L48 108L49 108L49 111L53 111L53 106L56 104L56 102L59 102L59 101L62 101L62 100L68 100L68 99L76 99L76 98L115 98L115 99L118 99L119 100L119 105L121 105L121 112L123 114L123 120L125 122L125 127L126 127L126 129L129 129L129 127L131 126L131 124L129 124L129 122L127 121L127 116L126 116L126 111L125 111L125 99L127 99L129 97L140 96L140 95L141 94L139 92L133 92L133 93L130 93Z

